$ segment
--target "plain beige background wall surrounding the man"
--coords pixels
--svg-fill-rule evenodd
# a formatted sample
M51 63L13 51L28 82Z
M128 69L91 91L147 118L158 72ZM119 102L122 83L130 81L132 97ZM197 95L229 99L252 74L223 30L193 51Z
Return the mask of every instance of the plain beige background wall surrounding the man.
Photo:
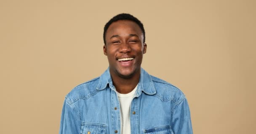
M255 134L255 0L0 0L0 134L57 134L64 96L108 67L104 24L145 26L142 67L187 96L194 134Z

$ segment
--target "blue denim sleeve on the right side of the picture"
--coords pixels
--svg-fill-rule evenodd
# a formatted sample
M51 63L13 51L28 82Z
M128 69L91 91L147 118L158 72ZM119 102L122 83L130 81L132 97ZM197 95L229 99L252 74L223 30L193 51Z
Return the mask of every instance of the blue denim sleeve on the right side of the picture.
M173 110L171 120L174 134L193 134L189 105L185 97Z

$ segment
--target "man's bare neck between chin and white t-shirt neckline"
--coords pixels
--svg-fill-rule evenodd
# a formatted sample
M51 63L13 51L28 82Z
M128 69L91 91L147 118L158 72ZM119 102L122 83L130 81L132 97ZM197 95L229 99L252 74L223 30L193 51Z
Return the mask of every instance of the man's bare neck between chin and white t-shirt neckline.
M129 78L122 78L111 72L110 75L112 77L113 85L115 86L117 92L127 94L130 93L136 87L136 85L138 85L140 70Z

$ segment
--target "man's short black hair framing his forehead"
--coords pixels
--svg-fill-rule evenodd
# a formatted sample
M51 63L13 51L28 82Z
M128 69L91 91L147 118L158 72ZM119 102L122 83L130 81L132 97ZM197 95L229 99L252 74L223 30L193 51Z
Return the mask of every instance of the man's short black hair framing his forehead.
M115 15L112 19L110 19L106 25L104 26L104 32L103 32L103 40L104 40L104 44L106 45L106 32L107 32L107 29L109 28L109 26L113 23L113 22L116 22L116 21L119 21L119 20L128 20L128 21L133 21L135 22L136 24L139 25L139 27L141 28L141 31L142 31L142 34L143 34L143 37L144 37L144 40L143 40L143 43L145 43L145 30L144 30L144 26L143 24L141 23L141 21L139 21L139 19L137 19L136 17L134 17L133 15L131 14L128 14L128 13L120 13L118 15Z

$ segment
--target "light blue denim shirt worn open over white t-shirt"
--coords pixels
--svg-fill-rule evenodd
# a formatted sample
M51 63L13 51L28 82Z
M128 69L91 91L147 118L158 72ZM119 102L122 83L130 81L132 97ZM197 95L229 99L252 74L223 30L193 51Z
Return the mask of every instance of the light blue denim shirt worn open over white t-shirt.
M193 134L185 95L141 68L130 110L131 134ZM59 134L121 134L120 104L109 69L66 95Z

